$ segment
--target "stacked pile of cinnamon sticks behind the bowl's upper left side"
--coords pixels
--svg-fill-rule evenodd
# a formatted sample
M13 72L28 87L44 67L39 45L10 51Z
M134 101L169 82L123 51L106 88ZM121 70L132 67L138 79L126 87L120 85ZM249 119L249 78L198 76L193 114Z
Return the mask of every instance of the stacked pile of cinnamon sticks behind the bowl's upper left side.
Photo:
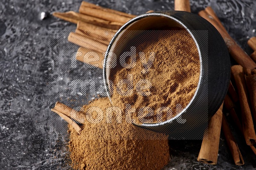
M153 12L152 10L148 12ZM147 13L148 13L147 12ZM116 31L136 15L103 8L83 1L79 12L54 12L60 19L75 23L76 31L71 32L68 41L79 45L76 60L102 68L104 52ZM92 62L90 52L95 52L99 60ZM85 55L88 53L89 55Z

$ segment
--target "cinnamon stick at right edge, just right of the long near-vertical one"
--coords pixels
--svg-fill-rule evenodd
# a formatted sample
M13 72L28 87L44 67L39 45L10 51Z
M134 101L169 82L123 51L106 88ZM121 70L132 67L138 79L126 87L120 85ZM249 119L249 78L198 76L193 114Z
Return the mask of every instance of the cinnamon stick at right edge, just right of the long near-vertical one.
M251 101L251 110L256 122L256 69L250 70L247 69L245 72L245 80L247 89L250 92L249 98Z

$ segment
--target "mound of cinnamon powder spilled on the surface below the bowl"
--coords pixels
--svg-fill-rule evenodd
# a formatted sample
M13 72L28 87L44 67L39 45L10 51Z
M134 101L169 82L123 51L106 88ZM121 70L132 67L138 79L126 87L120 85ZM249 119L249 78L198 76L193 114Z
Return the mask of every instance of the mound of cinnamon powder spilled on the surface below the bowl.
M162 169L168 164L168 137L148 131L122 119L117 123L113 114L111 123L106 122L106 109L112 105L107 97L96 99L84 106L98 107L104 118L97 124L84 120L81 135L69 128L69 151L74 169ZM123 110L123 109L122 109ZM92 114L93 118L98 115ZM124 116L124 112L122 113ZM120 119L118 119L120 121ZM147 138L150 136L150 139Z

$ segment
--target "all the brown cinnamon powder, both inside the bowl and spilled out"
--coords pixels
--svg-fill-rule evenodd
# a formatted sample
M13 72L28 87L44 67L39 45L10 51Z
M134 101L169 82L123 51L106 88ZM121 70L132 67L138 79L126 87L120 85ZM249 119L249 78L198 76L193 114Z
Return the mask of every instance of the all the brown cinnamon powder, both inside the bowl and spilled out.
M143 106L151 107L153 110L161 106L173 109L177 104L186 107L195 94L200 74L196 44L189 33L177 31L175 34L159 34L157 39L144 41L137 50L143 51L146 58L150 52L155 52L156 55L147 73L141 72L143 66L140 62L131 69L121 68L116 71L112 80L112 102L114 106L121 108L123 118L125 103L136 108L136 114ZM139 60L139 56L136 58ZM115 85L121 79L125 79L127 74L133 75L133 94L121 96L116 93ZM151 95L145 97L137 94L136 83L141 79L147 79L152 83L150 89L144 90L150 91ZM124 85L123 89L126 88ZM117 123L116 114L113 114L111 123L106 123L106 109L112 106L107 97L85 105L84 114L95 106L104 112L104 118L100 123L92 124L85 119L81 135L68 126L68 147L74 169L162 169L169 162L167 135L142 129L127 123L125 119L122 119L122 123ZM136 117L136 114L133 116ZM96 118L97 113L93 112L92 117Z

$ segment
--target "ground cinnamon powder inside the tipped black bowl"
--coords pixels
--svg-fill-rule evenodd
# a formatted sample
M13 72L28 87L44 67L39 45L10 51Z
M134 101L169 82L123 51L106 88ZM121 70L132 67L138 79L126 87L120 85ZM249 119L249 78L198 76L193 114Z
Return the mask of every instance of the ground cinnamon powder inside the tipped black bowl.
M185 108L195 94L200 75L199 54L196 43L185 30L156 32L151 37L154 38L150 39L148 34L146 37L137 37L125 49L136 47L136 65L132 68L119 67L116 73L111 75L114 84L111 100L113 105L120 108L129 103L136 111L141 107L150 107L154 111L160 107L169 107L173 110L173 114L168 117L171 118L179 113L175 112L177 105ZM134 43L136 40L142 43ZM147 73L143 72L139 52L144 52L147 61L150 53L155 53ZM128 58L127 63L129 62ZM117 84L127 79L128 74L133 76L133 93L122 96L117 93ZM145 92L151 92L149 96L141 96L136 91L136 85L142 79L151 82L151 87L144 89ZM127 91L127 87L128 85L124 84L123 90Z

